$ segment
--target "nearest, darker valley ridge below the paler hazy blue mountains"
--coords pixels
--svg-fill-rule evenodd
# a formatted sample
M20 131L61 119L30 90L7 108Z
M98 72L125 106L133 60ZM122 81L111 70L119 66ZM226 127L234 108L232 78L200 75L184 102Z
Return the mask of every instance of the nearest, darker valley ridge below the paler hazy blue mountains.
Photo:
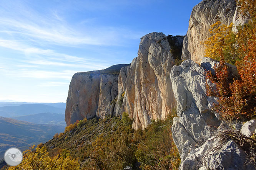
M63 132L64 129L63 125L35 124L0 117L0 158L10 147L27 149L52 139L55 133Z

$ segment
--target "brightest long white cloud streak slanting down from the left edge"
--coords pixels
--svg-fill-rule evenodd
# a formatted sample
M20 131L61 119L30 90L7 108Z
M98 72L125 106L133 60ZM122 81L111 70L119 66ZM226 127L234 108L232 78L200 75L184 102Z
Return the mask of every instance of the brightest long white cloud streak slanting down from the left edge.
M33 40L47 41L47 43L52 44L102 45L99 39L80 34L63 25L45 27L32 24L29 21L17 21L10 18L0 18L0 25L12 29L12 31L5 30L7 34L18 34L19 37L27 36L27 38Z

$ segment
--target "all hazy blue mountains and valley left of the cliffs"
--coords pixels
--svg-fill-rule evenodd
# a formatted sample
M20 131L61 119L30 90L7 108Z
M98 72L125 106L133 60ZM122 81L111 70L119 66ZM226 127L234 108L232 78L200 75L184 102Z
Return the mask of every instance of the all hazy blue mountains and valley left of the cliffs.
M66 126L66 103L0 102L0 160L10 147L47 142Z

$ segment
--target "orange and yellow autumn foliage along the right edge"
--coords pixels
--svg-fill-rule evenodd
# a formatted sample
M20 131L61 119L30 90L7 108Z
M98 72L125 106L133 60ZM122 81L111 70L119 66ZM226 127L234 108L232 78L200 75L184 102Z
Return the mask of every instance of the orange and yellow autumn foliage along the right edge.
M206 42L206 56L219 59L216 74L207 78L216 84L208 85L208 95L217 96L215 106L225 119L250 119L256 116L256 1L240 0L239 12L249 18L247 24L238 26L233 33L231 26L220 22L212 25L213 34ZM228 78L226 62L235 64L238 77Z

